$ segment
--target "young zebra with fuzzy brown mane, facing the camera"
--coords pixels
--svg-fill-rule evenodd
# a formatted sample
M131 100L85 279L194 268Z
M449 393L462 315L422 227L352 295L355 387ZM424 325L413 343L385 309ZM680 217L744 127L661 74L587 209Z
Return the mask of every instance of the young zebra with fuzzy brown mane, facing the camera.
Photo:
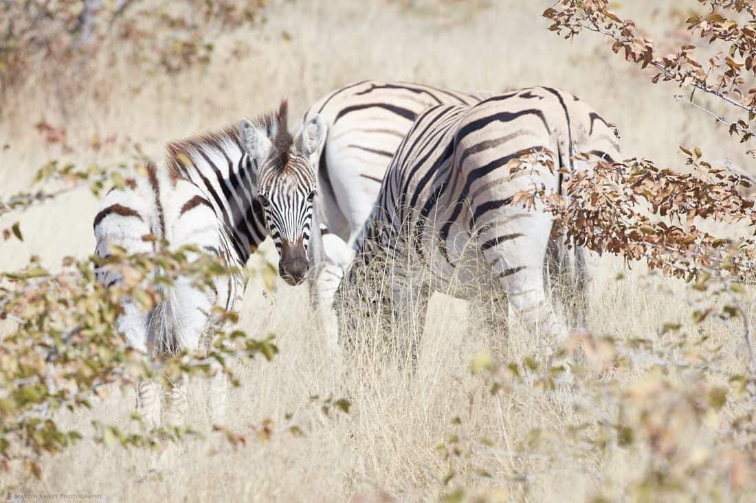
M280 254L280 276L291 285L305 279L310 261L312 203L316 187L310 156L321 148L325 125L312 116L296 137L287 129L287 102L277 113L168 145L165 168L147 166L122 190L111 190L95 216L96 253L107 256L112 245L129 253L153 252L152 234L174 247L197 245L225 263L244 267L249 255L270 235ZM286 212L277 211L285 205ZM194 258L190 258L194 260ZM105 285L122 278L104 268ZM213 306L235 310L244 286L240 277L219 277L212 290L198 289L179 278L163 287L163 301L145 312L129 299L117 321L133 347L156 356L181 348L196 349L209 324ZM210 409L222 417L225 386L212 381ZM186 410L184 385L168 395L169 421ZM138 408L148 424L160 424L160 390L153 381L138 386Z

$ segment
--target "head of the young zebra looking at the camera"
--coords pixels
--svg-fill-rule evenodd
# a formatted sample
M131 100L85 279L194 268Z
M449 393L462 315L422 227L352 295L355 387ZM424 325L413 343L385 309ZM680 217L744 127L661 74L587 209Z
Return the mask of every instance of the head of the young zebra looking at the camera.
M242 119L239 137L252 159L258 199L278 254L279 273L290 285L299 285L310 268L307 247L312 226L312 202L317 177L311 156L324 143L326 125L312 116L292 137L287 129L288 104L257 122Z

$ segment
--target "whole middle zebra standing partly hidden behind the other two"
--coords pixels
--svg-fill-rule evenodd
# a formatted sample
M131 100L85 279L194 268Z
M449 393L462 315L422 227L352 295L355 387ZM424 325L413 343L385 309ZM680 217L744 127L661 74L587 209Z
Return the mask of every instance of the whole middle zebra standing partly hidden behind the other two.
M335 316L330 313L330 298L342 276L342 266L349 261L352 243L370 216L378 197L386 168L414 119L431 106L439 104L472 105L490 92L464 93L433 88L411 82L362 81L345 85L314 103L305 113L305 123L319 115L327 124L327 140L315 154L318 172L316 206L333 235L323 237L328 250L319 261L317 298L321 300L321 317L327 323L330 338L337 338ZM562 110L562 109L558 109ZM566 109L565 120L572 119ZM318 233L318 230L315 230ZM584 323L587 307L589 271L582 248L568 251L565 242L550 240L548 264L544 272L562 293L559 301L569 304L569 312L578 324ZM329 259L336 262L329 263ZM333 260L336 259L336 260Z

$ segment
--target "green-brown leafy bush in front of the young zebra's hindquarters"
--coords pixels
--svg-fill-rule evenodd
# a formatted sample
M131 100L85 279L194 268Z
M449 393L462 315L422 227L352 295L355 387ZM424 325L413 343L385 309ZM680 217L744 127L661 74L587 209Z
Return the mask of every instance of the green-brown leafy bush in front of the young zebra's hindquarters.
M64 168L64 174L70 173ZM90 183L99 186L101 178L100 174ZM113 178L116 186L127 183L117 171ZM88 174L74 179L88 181ZM39 190L33 196L16 196L15 202L11 199L2 207L14 211L56 195ZM6 239L11 235L23 239L18 224L6 234ZM44 455L64 451L84 438L81 427L60 426L61 410L76 413L88 409L92 400L143 378L169 385L184 376L231 375L227 359L262 354L270 360L277 352L270 337L257 341L231 331L238 315L222 310L214 313L216 323L198 354L184 350L150 360L128 347L115 328L123 299L153 310L161 301L160 287L172 285L179 277L190 279L198 288L212 289L216 277L240 271L196 247L172 249L166 242L158 243L150 255L129 256L122 249L112 252L107 258L66 257L56 272L33 257L27 267L5 270L0 276L0 319L16 324L16 329L3 337L0 350L0 470L11 478L42 478L39 461ZM193 255L199 256L190 259ZM115 271L123 282L105 287L95 278L98 269ZM237 381L233 375L231 379ZM196 434L177 427L145 431L139 415L131 415L131 419L136 430L123 427L123 421L94 421L95 430L88 439L105 446L156 449L166 440ZM231 432L228 437L237 441Z

